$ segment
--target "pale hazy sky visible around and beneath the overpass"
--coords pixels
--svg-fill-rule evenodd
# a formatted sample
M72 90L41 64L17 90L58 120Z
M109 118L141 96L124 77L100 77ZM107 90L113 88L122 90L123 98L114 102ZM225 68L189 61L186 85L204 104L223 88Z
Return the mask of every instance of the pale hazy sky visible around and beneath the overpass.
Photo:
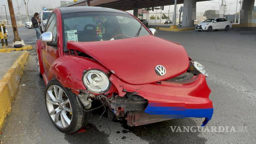
M12 0L15 13L18 13L17 1L18 1L18 5L21 7L20 8L21 14L26 14L24 0ZM41 5L45 5L46 7L51 6L51 8L56 8L56 7L60 6L61 0L26 0L26 2L27 1L28 1L28 12L31 15L34 12L39 12L42 8ZM72 0L65 0L65 1L72 1ZM235 13L236 2L237 2L237 0L226 0L226 5L228 7L227 11L230 12L230 14ZM9 15L9 8L8 8L7 0L0 0L0 4L6 5L7 14ZM197 2L196 3L196 12L204 12L205 9L207 9L207 10L216 9L216 8L218 9L220 4L221 4L221 0ZM3 14L5 15L4 6L1 6L1 5L0 5L0 12L1 12L1 7L2 7ZM256 1L255 1L254 5L256 5ZM178 5L177 9L179 9L180 6L183 6L183 4ZM229 10L229 6L230 6L230 10ZM239 6L240 6L240 4L238 4L237 9L239 9ZM173 5L170 6L170 11L173 11L173 9L174 9L174 6ZM165 6L164 10L162 12L168 13L168 10L169 10L169 6Z

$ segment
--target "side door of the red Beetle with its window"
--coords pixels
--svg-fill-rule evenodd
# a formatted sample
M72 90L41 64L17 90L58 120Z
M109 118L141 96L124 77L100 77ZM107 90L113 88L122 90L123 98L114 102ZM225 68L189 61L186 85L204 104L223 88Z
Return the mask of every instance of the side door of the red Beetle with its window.
M46 32L51 31L53 36L53 43L57 43L57 23L56 23L56 14L52 13L46 24ZM48 73L51 64L59 57L57 52L57 46L49 46L46 42L42 42L42 60L44 65L44 71L48 79Z

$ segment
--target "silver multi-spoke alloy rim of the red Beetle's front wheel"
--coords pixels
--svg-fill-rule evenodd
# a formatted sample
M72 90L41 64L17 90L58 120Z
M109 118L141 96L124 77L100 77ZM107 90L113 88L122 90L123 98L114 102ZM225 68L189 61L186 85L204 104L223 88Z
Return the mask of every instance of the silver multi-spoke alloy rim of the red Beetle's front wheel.
M64 90L58 85L51 85L46 92L46 107L52 121L62 129L72 122L72 107Z

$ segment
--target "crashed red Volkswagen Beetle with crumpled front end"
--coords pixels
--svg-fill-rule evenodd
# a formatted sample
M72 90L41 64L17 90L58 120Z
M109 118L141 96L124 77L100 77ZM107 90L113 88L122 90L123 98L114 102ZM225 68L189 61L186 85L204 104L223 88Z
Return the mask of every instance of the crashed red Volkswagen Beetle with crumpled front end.
M36 44L53 124L76 132L97 108L129 126L185 117L207 124L213 107L204 66L155 34L121 10L54 9Z

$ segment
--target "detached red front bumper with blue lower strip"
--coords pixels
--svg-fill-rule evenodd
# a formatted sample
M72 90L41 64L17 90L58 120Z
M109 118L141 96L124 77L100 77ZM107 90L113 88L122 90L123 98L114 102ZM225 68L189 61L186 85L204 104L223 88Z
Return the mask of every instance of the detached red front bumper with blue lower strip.
M204 126L213 115L209 99L211 90L202 74L181 82L161 81L145 85L130 85L114 75L110 81L118 89L119 96L132 92L147 99L148 106L144 112L153 118L205 117Z

